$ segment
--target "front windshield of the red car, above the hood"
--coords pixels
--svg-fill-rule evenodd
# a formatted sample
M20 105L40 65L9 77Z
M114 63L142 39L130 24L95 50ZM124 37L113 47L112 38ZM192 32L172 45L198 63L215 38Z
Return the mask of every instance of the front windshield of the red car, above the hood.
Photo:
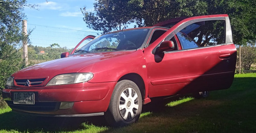
M141 47L150 29L137 29L105 34L95 38L74 54L113 50L135 50Z

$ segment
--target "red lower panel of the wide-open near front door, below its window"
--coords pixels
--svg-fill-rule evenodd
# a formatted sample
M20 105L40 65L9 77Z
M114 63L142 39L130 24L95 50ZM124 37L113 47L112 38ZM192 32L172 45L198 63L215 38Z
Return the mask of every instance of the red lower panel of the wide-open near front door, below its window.
M229 57L220 58L223 55ZM235 63L236 48L232 44L166 52L162 61L147 62L149 96L228 88L233 80Z

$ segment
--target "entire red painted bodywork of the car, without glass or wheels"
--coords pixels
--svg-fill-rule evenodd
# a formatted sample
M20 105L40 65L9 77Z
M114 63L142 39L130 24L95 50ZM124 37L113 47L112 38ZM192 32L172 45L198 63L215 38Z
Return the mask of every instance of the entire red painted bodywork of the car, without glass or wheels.
M228 15L221 14L169 20L172 24L177 24L170 29L152 27L148 36L152 36L156 30L166 32L149 46L136 50L73 54L83 40L94 38L88 36L78 43L71 55L65 53L65 58L36 64L14 73L14 86L3 90L3 98L13 110L19 112L52 116L95 116L106 112L115 85L122 79L136 78L134 81L140 82L137 85L143 90L141 94L144 104L153 97L226 89L233 81L237 57L230 35L231 28L227 29L226 42L218 46L182 50L181 42L176 36L176 33L191 22L226 19ZM156 26L167 24L165 21ZM176 38L177 51L155 54L156 48L168 37ZM148 44L150 39L151 37L146 37L145 43ZM47 85L55 76L69 73L93 73L93 78L76 84ZM33 86L19 85L15 81L38 78L45 80ZM14 92L33 92L36 103L74 102L74 105L68 109L54 108L51 111L15 108Z

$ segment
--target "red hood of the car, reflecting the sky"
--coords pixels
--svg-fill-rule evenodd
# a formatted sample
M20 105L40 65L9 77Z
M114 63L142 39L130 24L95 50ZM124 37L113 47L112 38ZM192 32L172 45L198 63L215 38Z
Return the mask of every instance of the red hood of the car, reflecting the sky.
M81 55L71 55L67 58L56 59L39 64L35 64L14 73L15 79L24 78L52 78L64 73L77 73L80 70L88 72L93 68L93 64L99 61L108 60L117 56L131 54L135 51L116 51L102 53L88 53Z

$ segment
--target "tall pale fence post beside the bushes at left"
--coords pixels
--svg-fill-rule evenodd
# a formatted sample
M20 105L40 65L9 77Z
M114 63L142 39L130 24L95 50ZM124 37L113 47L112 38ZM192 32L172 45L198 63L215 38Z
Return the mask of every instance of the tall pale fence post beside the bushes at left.
M25 64L28 65L28 31L27 31L27 20L22 21L22 30L25 38L23 39L23 58L25 59Z

